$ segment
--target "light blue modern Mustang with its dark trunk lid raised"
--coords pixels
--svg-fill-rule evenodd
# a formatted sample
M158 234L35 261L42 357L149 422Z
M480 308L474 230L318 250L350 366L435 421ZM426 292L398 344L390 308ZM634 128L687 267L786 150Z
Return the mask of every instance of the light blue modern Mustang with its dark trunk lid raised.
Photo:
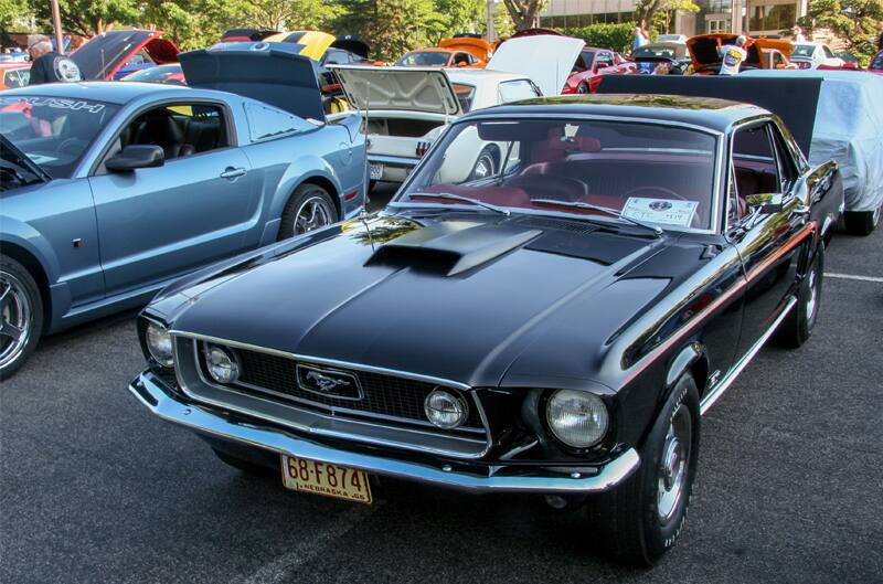
M43 333L362 208L361 117L326 120L312 62L274 50L181 62L191 87L0 96L0 379Z

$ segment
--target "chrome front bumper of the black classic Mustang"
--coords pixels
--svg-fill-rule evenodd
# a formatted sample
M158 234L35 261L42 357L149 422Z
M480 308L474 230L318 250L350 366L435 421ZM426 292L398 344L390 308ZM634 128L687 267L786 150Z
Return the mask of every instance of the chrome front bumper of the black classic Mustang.
M200 434L274 453L470 492L603 492L628 478L640 465L638 453L631 448L592 476L478 476L454 470L446 464L433 466L339 450L259 423L227 420L210 408L181 401L148 372L135 379L129 384L129 391L159 417Z

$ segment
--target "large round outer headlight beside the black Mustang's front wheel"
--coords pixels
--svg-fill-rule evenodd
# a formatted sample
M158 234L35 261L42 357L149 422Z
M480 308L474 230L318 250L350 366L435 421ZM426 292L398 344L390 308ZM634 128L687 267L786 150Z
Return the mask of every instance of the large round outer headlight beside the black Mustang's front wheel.
M607 433L607 406L594 393L561 390L545 407L549 428L557 439L574 448L587 448Z

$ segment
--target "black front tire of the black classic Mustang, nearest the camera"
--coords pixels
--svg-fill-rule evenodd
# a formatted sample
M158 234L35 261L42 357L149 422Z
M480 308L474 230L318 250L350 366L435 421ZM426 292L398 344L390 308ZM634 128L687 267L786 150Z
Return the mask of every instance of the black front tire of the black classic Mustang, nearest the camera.
M681 428L687 424L689 438L672 440L669 428ZM587 501L589 528L606 556L624 564L650 566L674 545L690 507L699 459L699 392L693 378L685 374L666 401L640 449L638 470L613 491ZM685 445L689 445L688 452L683 450ZM677 475L680 481L673 482L672 489L668 489L664 478L671 474L662 471L667 453L681 455L680 458L667 458L671 468L680 470ZM685 465L680 466L680 461ZM680 485L677 491L674 485ZM672 493L670 497L660 497L663 486L668 489L666 493Z

